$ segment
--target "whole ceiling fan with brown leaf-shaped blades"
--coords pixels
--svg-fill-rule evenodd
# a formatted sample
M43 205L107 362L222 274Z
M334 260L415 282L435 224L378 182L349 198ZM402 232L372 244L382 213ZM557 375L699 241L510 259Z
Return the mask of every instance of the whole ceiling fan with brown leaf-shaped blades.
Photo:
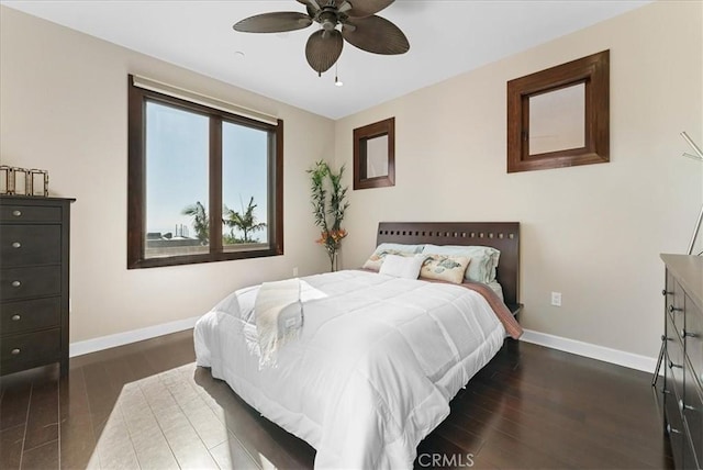
M305 5L308 14L293 11L256 14L233 27L243 33L281 33L320 23L321 29L312 33L305 45L308 64L317 75L337 61L344 41L375 54L395 55L410 49L403 32L376 14L394 0L297 1Z

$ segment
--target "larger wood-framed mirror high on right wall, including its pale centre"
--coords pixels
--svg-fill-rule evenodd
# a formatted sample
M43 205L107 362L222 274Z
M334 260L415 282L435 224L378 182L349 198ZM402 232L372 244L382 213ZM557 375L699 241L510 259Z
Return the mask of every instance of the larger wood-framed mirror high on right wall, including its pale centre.
M610 51L507 82L507 172L610 161Z

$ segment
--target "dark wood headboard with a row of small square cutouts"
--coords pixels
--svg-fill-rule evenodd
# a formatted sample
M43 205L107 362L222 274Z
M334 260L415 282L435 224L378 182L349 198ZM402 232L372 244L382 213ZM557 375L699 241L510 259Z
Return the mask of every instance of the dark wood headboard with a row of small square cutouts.
M501 251L496 279L507 306L517 305L520 289L520 222L381 222L376 245L403 243L480 245Z

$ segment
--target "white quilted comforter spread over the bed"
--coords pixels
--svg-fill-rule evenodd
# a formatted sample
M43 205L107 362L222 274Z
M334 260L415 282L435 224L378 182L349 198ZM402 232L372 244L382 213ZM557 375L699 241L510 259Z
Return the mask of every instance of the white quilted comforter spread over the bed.
M505 336L469 289L339 271L301 278L302 333L276 368L259 370L256 291L198 321L198 365L313 446L315 468L411 468L417 444Z

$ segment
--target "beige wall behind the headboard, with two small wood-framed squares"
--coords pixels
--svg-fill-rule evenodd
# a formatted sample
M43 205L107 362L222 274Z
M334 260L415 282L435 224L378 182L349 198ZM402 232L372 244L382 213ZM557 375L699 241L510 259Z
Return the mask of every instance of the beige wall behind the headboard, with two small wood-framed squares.
M702 23L701 2L657 2L338 121L348 168L355 127L395 116L397 135L395 187L350 193L344 265L371 253L379 221L520 221L524 325L656 357L659 254L685 253L703 202L679 136L703 143ZM507 175L506 81L603 49L611 163Z

